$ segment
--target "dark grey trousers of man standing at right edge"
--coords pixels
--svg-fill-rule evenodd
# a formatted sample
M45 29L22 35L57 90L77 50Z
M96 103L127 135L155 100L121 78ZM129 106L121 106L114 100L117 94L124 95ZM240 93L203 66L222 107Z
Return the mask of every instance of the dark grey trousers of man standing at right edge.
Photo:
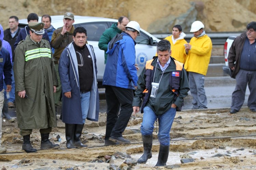
M235 84L235 90L232 93L231 109L240 110L243 106L247 83L250 90L247 106L250 109L256 109L256 71L240 69L235 76L235 81L237 83Z

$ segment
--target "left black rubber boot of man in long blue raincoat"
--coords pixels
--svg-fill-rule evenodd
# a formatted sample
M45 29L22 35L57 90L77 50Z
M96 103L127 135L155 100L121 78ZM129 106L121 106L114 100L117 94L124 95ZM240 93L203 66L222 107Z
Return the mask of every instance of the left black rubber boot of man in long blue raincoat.
M74 145L74 133L75 133L75 124L65 123L65 133L66 133L66 148L67 149L76 149Z

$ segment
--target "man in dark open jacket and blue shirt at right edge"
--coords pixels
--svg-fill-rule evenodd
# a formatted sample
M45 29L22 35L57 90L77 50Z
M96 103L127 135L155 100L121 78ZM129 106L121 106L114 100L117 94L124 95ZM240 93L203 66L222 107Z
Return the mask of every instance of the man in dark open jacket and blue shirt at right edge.
M250 90L247 106L256 112L256 22L250 22L246 29L246 33L235 38L228 53L228 65L236 81L230 113L243 106L247 84Z

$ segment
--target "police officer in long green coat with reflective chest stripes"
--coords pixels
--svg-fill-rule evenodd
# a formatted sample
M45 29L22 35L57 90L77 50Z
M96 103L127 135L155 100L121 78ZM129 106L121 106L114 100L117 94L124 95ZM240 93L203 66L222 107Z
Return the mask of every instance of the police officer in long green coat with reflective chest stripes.
M44 24L30 22L26 39L15 49L14 79L18 127L23 136L22 149L37 152L30 143L32 129L40 129L41 149L59 148L49 140L56 127L53 93L58 86L50 44L42 39Z

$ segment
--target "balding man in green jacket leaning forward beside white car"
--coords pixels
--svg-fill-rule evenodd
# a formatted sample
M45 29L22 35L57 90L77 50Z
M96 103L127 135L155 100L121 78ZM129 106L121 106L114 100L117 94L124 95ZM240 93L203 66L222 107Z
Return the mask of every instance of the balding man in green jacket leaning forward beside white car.
M118 22L117 23L114 23L112 24L112 26L108 29L106 29L102 36L100 36L99 38L99 49L101 50L104 50L105 53L104 53L104 56L105 56L105 64L107 62L107 54L106 54L106 51L108 50L108 43L110 42L110 40L112 40L112 38L114 36L117 35L117 33L121 34L122 31L125 31L125 27L126 25L128 24L129 22L129 19L125 16L121 16L119 19L118 19Z

